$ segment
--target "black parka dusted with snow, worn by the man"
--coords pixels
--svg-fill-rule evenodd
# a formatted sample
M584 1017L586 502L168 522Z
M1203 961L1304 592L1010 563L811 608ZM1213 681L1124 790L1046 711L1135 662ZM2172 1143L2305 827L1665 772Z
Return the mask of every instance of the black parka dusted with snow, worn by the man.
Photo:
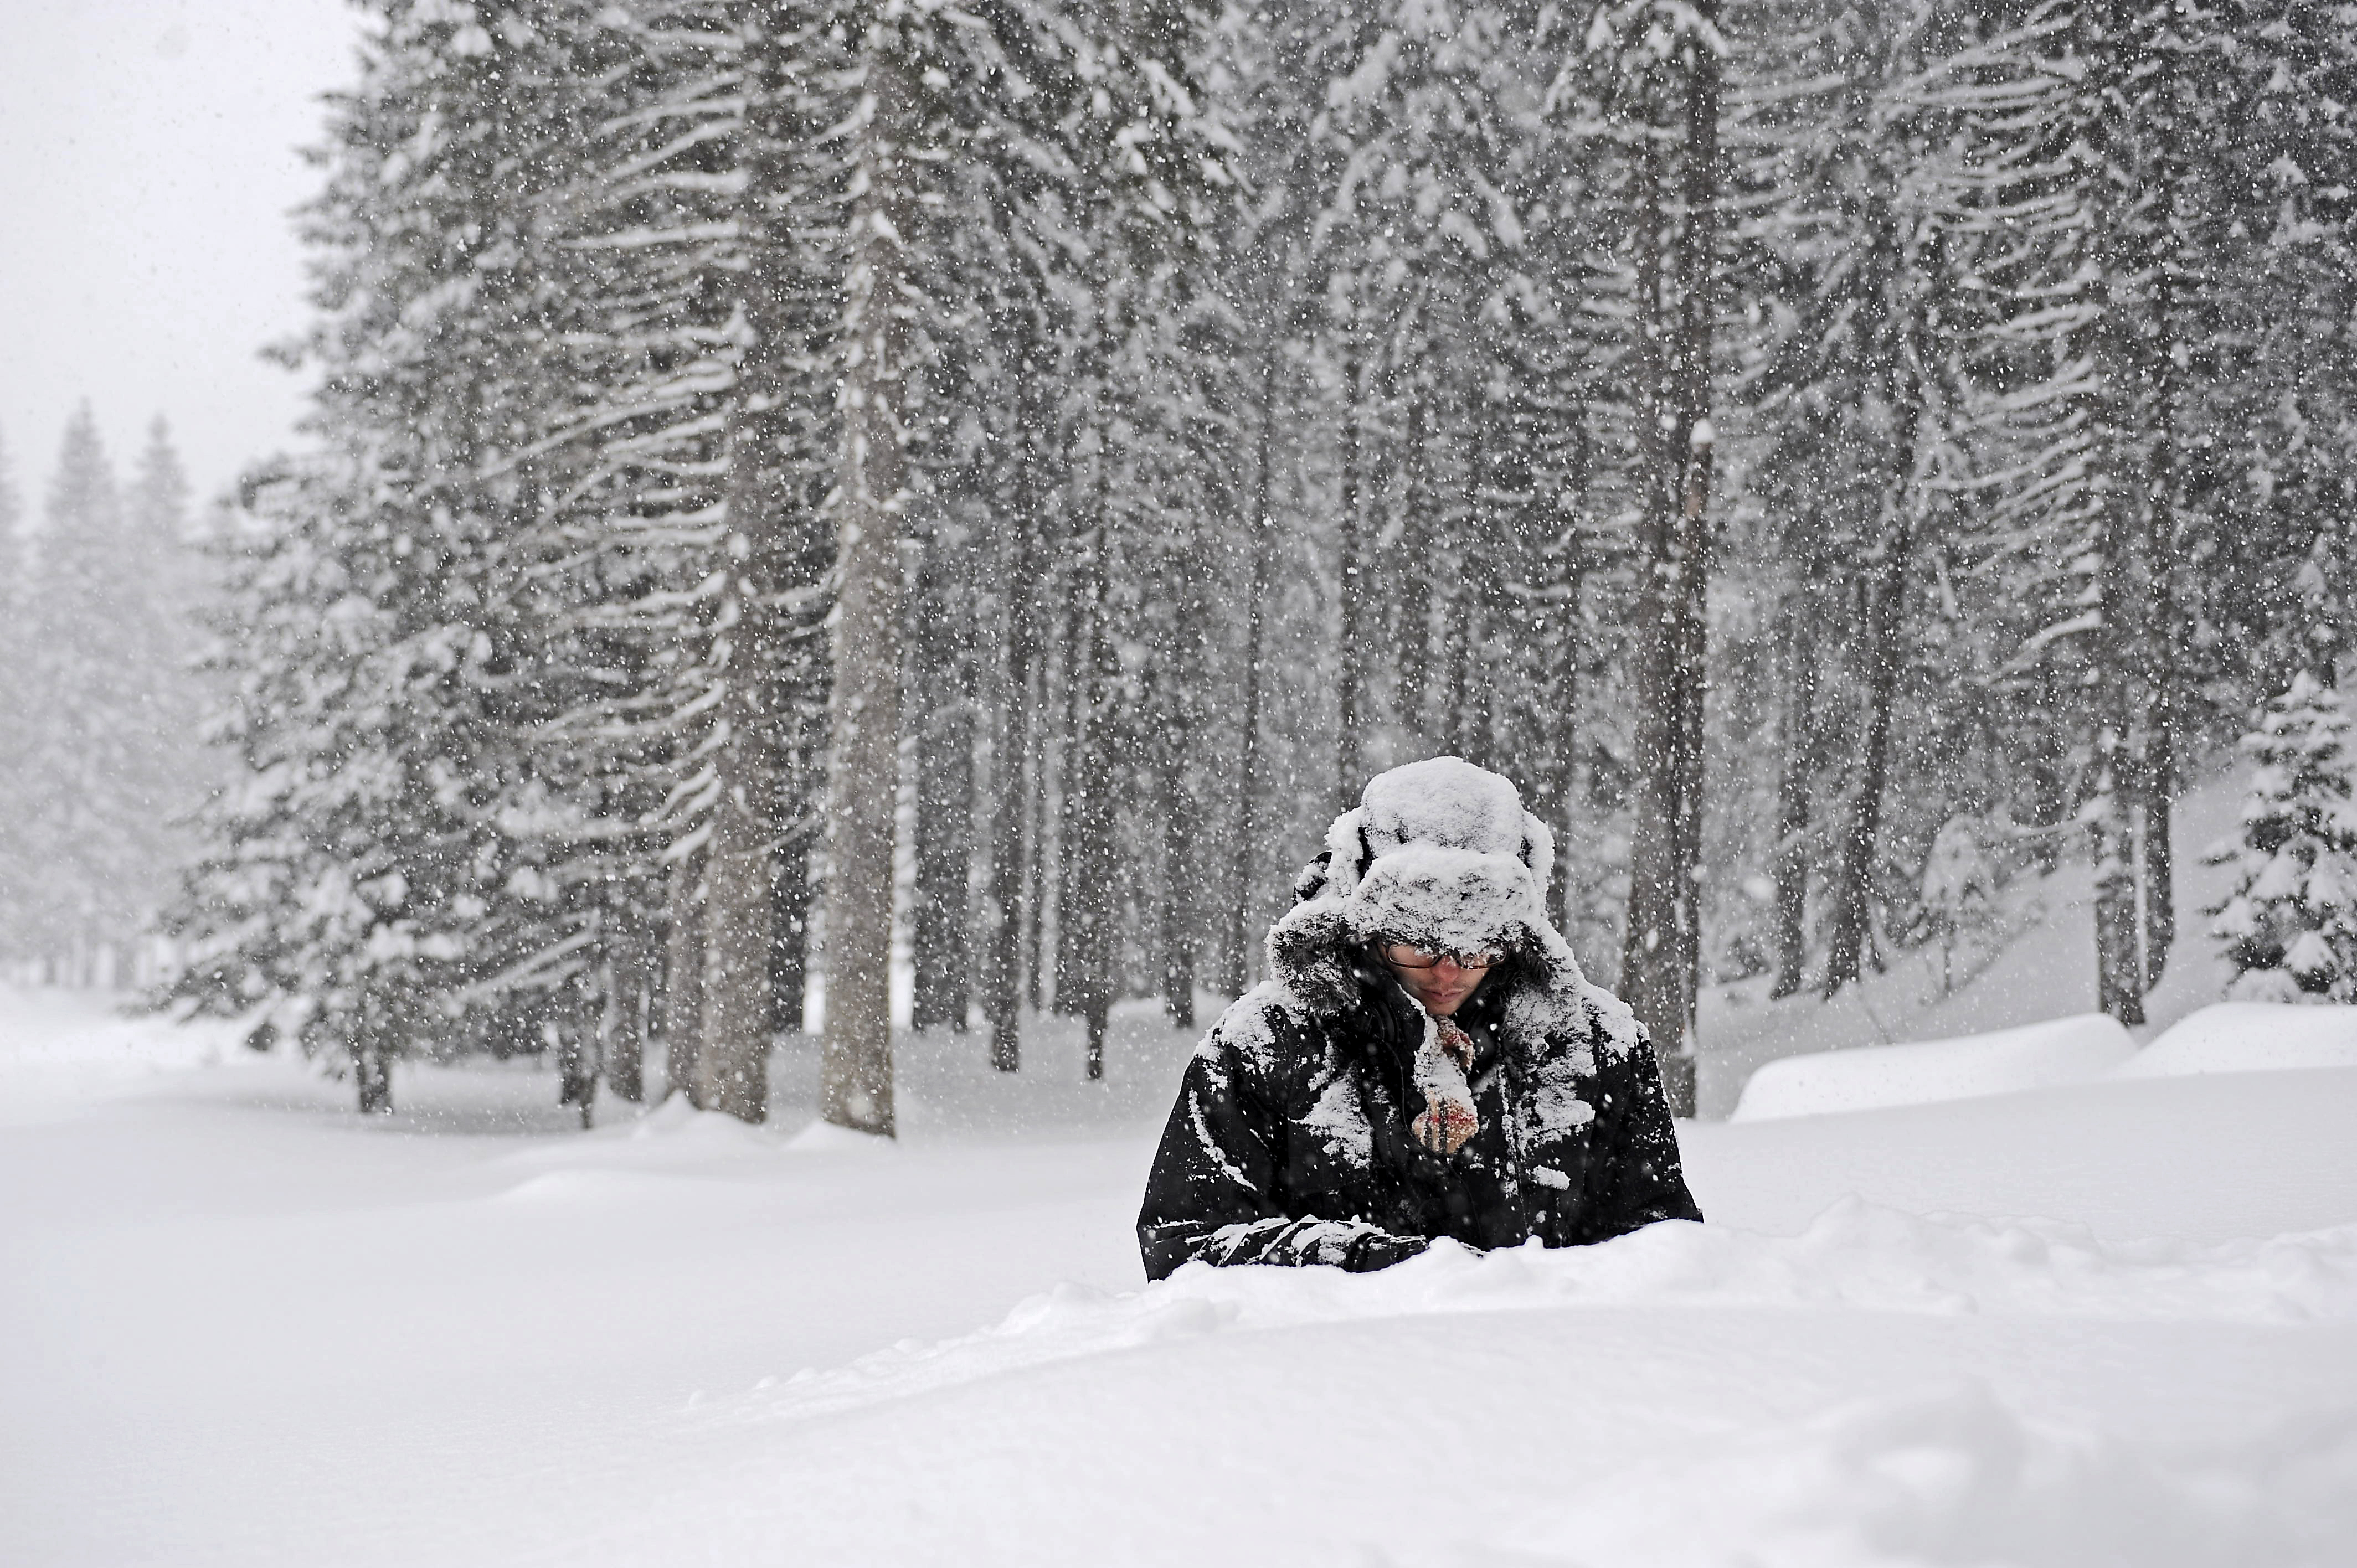
M1454 1155L1409 1132L1426 1016L1391 971L1334 920L1280 924L1270 957L1275 979L1188 1063L1138 1214L1148 1278L1197 1259L1362 1271L1440 1236L1572 1247L1702 1219L1652 1047L1567 950L1508 960L1459 1009L1480 1132Z

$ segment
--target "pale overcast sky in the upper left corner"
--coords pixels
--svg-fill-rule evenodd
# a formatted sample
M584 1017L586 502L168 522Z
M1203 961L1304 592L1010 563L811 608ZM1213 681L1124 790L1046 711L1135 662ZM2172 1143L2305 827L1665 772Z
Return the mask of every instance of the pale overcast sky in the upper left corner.
M306 316L297 146L349 83L344 0L0 0L0 441L26 512L82 398L118 472L158 413L198 498L292 443L257 358Z

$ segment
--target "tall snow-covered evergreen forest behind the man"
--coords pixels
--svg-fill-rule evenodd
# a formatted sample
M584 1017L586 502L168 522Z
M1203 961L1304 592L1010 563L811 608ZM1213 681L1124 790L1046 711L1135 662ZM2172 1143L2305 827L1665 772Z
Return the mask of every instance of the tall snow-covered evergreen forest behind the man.
M1704 986L1836 995L1959 865L2091 863L2140 1023L2171 804L2352 670L2357 5L363 9L309 427L210 528L233 783L132 851L158 1002L363 1108L759 1120L823 1012L889 1132L896 974L1006 1070L1195 1028L1438 752L1683 1108ZM179 519L158 453L52 512Z

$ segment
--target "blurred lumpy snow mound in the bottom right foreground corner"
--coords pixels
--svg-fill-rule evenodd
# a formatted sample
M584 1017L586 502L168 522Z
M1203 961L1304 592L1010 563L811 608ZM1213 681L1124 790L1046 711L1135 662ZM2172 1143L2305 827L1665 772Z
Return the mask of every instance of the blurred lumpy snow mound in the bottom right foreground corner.
M2348 1412L2171 1452L2027 1419L1987 1384L1959 1382L1610 1476L1485 1544L1513 1561L1648 1568L2242 1568L2333 1561L2350 1530Z

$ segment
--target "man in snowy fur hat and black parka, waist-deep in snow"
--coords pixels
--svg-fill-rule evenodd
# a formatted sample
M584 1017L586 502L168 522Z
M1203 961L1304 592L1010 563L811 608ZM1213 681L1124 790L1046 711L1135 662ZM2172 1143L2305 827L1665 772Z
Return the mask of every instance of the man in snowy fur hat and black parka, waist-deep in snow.
M1381 773L1188 1063L1138 1214L1178 1264L1384 1269L1702 1219L1652 1047L1546 920L1553 837L1457 757Z

